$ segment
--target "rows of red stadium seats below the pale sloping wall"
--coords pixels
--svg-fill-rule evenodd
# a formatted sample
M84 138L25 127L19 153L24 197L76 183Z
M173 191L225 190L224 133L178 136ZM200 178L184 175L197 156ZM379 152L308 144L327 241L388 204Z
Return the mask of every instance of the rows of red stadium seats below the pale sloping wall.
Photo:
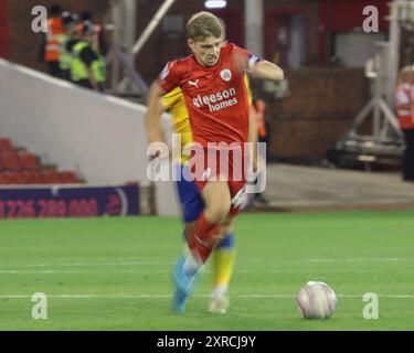
M59 171L54 165L42 165L33 153L14 148L8 138L0 138L0 184L74 183L82 183L74 171Z

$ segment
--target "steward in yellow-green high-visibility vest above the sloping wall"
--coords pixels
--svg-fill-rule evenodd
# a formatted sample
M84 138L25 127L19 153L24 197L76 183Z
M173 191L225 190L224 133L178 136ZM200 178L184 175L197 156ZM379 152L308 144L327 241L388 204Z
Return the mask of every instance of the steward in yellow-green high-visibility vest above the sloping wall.
M94 24L84 21L77 29L78 40L68 44L72 52L72 82L91 89L103 90L106 79L106 65L95 45Z

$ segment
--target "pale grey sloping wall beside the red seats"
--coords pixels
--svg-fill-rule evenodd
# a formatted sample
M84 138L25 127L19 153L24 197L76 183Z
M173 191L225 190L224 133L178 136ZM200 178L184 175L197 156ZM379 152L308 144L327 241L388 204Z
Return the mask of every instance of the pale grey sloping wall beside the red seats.
M0 131L45 163L75 170L91 183L148 186L146 108L78 88L0 60ZM169 124L164 121L169 131ZM169 135L169 133L167 133ZM159 214L178 214L172 185L156 191Z

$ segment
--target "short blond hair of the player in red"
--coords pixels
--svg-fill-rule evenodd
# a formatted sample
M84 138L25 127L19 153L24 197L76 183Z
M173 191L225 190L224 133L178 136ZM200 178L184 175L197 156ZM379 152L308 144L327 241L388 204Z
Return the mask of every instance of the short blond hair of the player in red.
M187 35L193 41L203 41L210 36L225 36L225 24L211 12L201 11L187 22Z

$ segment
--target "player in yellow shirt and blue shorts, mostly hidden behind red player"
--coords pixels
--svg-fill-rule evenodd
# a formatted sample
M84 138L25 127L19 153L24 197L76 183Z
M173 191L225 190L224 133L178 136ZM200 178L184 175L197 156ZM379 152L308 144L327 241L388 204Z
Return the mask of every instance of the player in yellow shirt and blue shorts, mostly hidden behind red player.
M245 85L248 92L250 104L252 104L252 90L247 75L245 75ZM192 142L192 133L189 114L181 89L177 87L166 94L162 97L162 106L171 114L171 124L174 132L180 133L182 151L185 145ZM255 127L251 124L250 136L252 132L253 135L257 133L252 130L255 130ZM185 154L181 154L180 162L174 165L174 168L177 168L177 175L180 174L182 176L185 174L185 170L188 169L185 167L187 159L188 157ZM204 202L194 182L188 181L183 176L179 179L180 180L177 181L177 190L181 203L182 217L185 223L185 229L190 229L194 226L200 214L203 212ZM236 252L233 229L226 227L221 228L220 232L221 234L217 234L217 236L222 237L222 240L216 245L213 254L214 289L209 304L209 311L225 313L229 307L226 292L233 272Z

